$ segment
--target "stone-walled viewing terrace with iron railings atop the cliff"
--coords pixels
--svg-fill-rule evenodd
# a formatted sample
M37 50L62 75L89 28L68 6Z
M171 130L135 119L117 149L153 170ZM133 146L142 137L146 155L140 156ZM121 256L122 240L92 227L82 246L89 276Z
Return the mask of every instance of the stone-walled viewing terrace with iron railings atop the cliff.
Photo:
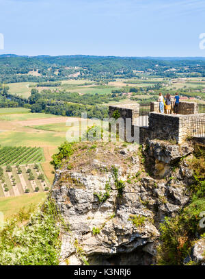
M115 110L124 119L125 140L128 130L125 120L132 119L131 134L137 143L159 139L180 144L189 137L197 137L205 142L205 105L181 101L178 114L160 113L159 102L109 106L109 117L112 117Z

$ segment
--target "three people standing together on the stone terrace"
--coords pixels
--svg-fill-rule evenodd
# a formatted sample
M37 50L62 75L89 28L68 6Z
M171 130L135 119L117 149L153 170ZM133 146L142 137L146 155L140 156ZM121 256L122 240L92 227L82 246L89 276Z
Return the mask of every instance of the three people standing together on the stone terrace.
M174 97L174 113L175 114L178 114L179 100L180 100L180 97L179 97L178 93L176 93L176 95ZM159 101L160 112L164 113L164 111L166 110L166 113L170 114L171 109L172 109L171 95L169 93L167 93L167 95L165 95L165 98L164 98L162 93L159 93L158 101Z

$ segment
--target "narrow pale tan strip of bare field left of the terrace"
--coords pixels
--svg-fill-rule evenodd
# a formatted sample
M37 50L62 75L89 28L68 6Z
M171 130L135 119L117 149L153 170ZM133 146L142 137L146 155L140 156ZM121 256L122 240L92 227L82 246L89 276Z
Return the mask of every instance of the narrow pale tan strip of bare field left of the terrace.
M23 126L46 125L46 124L53 124L53 123L65 123L66 125L66 121L72 123L79 120L81 120L81 118L79 117L53 117L53 118L44 118L44 119L16 121L16 123Z

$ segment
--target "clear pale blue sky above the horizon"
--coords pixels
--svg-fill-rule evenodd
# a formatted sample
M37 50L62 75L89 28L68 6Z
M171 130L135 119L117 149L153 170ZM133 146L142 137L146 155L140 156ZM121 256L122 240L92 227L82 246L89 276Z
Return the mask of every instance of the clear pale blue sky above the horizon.
M204 0L0 0L0 54L205 56L204 15Z

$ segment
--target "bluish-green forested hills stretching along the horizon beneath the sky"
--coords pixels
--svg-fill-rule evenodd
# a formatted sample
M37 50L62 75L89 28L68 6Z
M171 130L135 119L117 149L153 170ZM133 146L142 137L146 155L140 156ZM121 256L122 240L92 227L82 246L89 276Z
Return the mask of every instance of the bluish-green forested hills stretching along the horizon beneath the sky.
M174 69L174 71L173 71ZM33 75L32 71L38 73ZM114 56L0 56L0 82L54 82L65 78L111 81L137 77L205 76L204 58L133 58Z

